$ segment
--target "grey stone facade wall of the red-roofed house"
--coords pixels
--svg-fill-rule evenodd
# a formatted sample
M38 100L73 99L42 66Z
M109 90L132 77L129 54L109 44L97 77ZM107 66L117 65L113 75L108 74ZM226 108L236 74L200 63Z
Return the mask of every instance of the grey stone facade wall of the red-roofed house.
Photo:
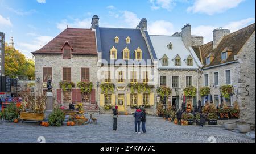
M75 83L75 88L77 88L77 82L81 81L81 68L88 67L97 99L97 59L97 55L72 55L71 59L63 59L62 54L35 54L35 79L40 78L40 83L35 81L36 95L42 94L43 89L47 89L43 88L43 83L47 83L43 82L43 67L52 67L52 93L55 98L56 89L60 89L59 82L63 80L63 67L71 67L71 80Z

